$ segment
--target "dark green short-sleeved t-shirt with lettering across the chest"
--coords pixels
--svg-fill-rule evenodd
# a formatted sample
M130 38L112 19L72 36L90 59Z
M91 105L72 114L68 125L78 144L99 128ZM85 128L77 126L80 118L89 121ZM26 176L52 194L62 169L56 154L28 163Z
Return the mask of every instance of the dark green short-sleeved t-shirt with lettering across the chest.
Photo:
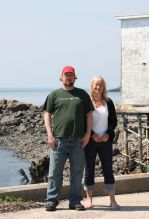
M84 90L60 88L47 96L43 109L52 114L56 137L82 137L86 131L86 114L94 107Z

